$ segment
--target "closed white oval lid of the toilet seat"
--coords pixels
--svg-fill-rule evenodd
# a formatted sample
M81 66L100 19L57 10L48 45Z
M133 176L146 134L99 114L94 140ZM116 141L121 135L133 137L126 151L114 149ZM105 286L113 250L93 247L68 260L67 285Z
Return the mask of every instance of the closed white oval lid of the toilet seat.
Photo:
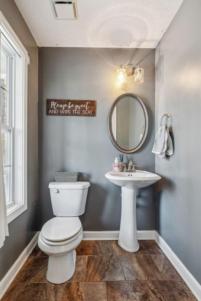
M81 229L82 224L77 217L54 217L42 227L42 235L47 240L61 241L76 235Z

